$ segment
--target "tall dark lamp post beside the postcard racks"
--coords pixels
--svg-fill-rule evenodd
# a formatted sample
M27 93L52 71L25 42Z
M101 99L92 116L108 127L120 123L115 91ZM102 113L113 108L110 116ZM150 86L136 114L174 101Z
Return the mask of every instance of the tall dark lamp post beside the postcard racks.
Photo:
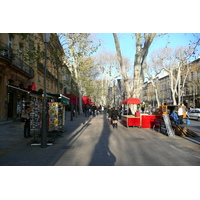
M43 33L43 40L45 43L45 64L44 64L44 98L43 98L43 109L42 109L42 138L41 147L47 146L47 92L46 92L46 68L47 68L47 45L50 41L50 33Z

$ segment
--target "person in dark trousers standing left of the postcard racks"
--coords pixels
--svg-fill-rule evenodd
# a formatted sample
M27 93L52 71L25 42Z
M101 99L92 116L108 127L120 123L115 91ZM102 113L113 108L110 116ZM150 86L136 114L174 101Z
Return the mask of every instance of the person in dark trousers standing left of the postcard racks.
M21 122L24 123L24 137L32 137L30 134L30 107L25 107L21 115Z

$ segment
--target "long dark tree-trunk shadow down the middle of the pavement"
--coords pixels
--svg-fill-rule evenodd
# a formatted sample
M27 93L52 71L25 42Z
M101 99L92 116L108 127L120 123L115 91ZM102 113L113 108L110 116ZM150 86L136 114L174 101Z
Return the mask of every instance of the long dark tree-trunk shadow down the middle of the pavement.
M115 155L109 149L109 137L111 130L108 127L108 120L106 115L103 122L103 131L95 146L89 166L114 166L116 162Z

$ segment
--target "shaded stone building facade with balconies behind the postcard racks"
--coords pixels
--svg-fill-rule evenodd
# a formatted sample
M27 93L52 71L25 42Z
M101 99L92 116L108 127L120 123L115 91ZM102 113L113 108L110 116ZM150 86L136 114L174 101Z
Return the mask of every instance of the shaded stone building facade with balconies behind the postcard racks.
M18 103L32 98L30 90L43 91L44 48L41 33L0 33L0 120L18 118ZM46 76L46 91L49 93L63 93L59 76L63 54L57 35L51 34Z

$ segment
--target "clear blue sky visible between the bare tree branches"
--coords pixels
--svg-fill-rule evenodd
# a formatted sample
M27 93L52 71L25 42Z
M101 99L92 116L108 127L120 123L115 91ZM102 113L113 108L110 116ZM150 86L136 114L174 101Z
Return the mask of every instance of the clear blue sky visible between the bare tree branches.
M128 57L133 63L135 54L135 43L132 39L132 35L133 34L130 33L119 33L118 38L120 41L122 55ZM195 35L200 38L200 33ZM112 33L97 33L96 37L102 40L102 46L99 48L99 51L107 50L116 52ZM154 50L164 48L168 42L170 42L168 45L169 47L177 48L179 46L188 46L190 40L196 41L196 38L193 36L193 33L170 33L162 37L157 37L151 44L149 55ZM196 55L196 58L197 57L198 53Z

